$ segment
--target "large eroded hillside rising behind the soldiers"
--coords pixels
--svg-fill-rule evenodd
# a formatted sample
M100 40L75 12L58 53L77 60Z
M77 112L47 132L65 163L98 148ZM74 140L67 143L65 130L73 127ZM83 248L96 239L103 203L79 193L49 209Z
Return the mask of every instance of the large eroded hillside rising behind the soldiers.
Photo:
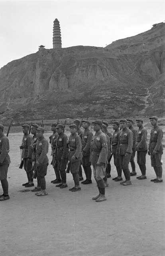
M164 34L163 24L106 48L41 49L8 63L0 69L1 119L162 115Z

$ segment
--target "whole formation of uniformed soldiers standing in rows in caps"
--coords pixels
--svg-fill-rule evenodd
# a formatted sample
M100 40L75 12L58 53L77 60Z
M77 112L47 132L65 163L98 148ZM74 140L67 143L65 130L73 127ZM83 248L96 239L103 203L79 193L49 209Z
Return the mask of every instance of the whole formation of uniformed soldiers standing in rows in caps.
M157 125L157 117L152 116L150 119L153 129L150 134L148 154L151 156L151 166L153 166L156 178L151 182L160 183L162 180L162 162L163 154L162 138L163 132ZM53 123L50 137L52 148L52 165L55 170L55 180L51 182L59 188L67 188L66 169L71 171L74 180L74 186L69 190L76 192L81 190L80 181L83 180L82 167L86 176L86 180L82 184L92 183L91 165L93 167L94 179L99 190L99 194L93 197L96 202L106 200L105 186L108 186L107 177L110 177L110 160L114 157L114 165L116 166L117 176L112 180L123 186L132 184L130 176L136 176L134 157L137 152L137 163L141 170L139 180L146 179L145 157L147 154L147 130L143 127L143 120L136 119L138 131L133 127L133 120L121 119L120 122L112 122L114 133L111 135L107 128L108 122L95 120L92 122L93 135L90 130L90 122L83 120L83 128L80 128L80 120L76 119L69 126L71 135L69 139L64 133L62 124ZM22 184L25 187L33 187L33 178L37 178L37 186L33 188L33 192L37 196L45 196L46 183L45 175L48 166L48 148L49 143L44 138L45 132L43 127L37 124L31 125L31 135L29 134L29 125L22 126L24 137L22 139L22 158L24 169L27 174L28 182ZM121 130L120 130L121 129ZM0 125L0 180L4 193L0 196L0 200L9 199L7 171L10 164L9 143L8 138L3 134L3 126ZM69 161L69 162L68 162ZM132 172L129 170L129 162L132 166ZM67 167L68 166L68 167ZM122 179L122 170L125 180Z

